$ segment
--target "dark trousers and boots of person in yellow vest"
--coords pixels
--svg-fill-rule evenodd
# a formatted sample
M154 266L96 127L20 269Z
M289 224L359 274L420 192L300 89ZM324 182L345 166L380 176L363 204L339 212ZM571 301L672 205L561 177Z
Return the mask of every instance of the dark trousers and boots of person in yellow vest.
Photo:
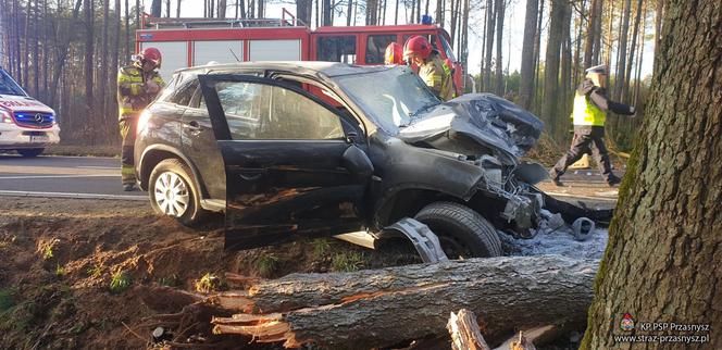
M564 154L553 167L557 178L567 172L567 167L582 159L584 153L594 155L594 159L599 166L599 171L601 172L601 176L609 183L614 174L612 173L612 165L609 160L607 146L605 146L603 126L594 126L592 129L574 129L572 146L569 151L567 151L567 154Z

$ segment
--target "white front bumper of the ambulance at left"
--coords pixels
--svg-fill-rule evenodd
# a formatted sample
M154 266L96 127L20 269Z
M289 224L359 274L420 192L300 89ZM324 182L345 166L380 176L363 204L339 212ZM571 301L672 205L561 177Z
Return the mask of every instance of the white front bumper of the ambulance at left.
M58 142L60 142L58 124L49 128L29 128L0 123L0 149L43 148Z

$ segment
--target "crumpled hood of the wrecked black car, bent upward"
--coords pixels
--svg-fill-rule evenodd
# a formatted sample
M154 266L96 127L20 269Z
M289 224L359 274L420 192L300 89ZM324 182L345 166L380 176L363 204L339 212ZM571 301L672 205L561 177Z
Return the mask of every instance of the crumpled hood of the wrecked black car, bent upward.
M468 93L421 113L398 137L418 142L447 132L514 157L522 157L542 135L544 123L528 111L493 93Z

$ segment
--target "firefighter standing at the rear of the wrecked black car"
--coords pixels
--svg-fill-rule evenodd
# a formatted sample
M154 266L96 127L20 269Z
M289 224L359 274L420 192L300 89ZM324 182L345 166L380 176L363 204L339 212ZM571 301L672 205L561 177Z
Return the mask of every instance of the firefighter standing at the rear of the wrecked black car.
M119 124L123 138L121 175L125 191L135 190L136 185L133 146L138 115L165 85L158 73L161 60L158 49L146 48L135 57L132 65L121 67L117 72Z

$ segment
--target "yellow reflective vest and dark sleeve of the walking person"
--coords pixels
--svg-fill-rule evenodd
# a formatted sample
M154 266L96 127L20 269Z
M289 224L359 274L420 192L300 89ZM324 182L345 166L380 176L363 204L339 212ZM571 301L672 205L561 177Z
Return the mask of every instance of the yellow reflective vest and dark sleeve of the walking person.
M589 79L580 84L572 112L575 126L605 126L607 111L625 115L634 114L634 110L628 105L608 100L606 92L603 88L594 86Z

